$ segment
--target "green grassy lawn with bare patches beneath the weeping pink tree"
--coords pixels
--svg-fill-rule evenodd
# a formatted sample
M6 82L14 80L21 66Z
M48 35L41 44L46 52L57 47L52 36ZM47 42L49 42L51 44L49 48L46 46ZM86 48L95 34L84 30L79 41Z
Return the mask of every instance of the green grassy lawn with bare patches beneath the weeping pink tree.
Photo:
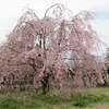
M0 109L109 109L109 88L83 88L70 99L32 92L0 94Z

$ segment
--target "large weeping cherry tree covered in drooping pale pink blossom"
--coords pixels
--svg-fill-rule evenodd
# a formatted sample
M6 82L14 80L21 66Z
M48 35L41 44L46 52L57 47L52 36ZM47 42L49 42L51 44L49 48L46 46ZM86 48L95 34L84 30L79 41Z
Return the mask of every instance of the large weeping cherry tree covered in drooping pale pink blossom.
M102 65L92 53L99 45L92 19L87 11L73 15L60 3L51 5L43 19L28 9L8 36L5 50L1 46L0 57L7 57L1 73L14 72L36 90L41 87L43 94L50 86L69 92L71 86L102 84Z

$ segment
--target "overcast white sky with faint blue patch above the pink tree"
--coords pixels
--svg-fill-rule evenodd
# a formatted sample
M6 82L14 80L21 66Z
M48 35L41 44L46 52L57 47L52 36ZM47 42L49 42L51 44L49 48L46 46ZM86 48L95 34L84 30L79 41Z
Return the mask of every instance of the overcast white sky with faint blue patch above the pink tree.
M100 39L109 44L109 0L0 0L0 41L4 41L17 20L24 13L24 7L28 7L43 17L45 11L55 3L63 3L74 14L81 11L95 13L93 27Z

